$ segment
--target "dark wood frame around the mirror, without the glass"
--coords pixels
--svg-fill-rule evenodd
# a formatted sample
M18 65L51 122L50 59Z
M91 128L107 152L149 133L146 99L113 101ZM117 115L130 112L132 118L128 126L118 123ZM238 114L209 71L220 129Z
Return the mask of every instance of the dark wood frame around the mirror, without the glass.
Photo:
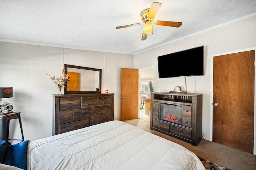
M65 74L68 73L68 68L99 71L99 91L67 91L68 83L66 83L65 88L64 88L64 94L101 93L101 74L102 74L101 69L94 69L94 68L89 68L89 67L81 67L81 66L68 65L68 64L64 64L64 67L65 67Z

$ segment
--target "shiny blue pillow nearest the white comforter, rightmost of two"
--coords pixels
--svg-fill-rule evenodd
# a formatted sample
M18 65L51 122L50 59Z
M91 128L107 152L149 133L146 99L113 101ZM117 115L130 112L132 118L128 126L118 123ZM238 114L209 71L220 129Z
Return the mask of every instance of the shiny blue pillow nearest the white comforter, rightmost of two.
M27 169L27 150L29 140L12 144L7 148L4 164Z

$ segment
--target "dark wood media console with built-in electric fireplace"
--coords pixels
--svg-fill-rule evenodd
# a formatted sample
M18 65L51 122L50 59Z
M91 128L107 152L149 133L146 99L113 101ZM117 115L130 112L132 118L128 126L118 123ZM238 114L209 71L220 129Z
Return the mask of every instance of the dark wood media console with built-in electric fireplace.
M202 139L202 95L151 93L150 129L196 146ZM177 114L173 115L172 112Z

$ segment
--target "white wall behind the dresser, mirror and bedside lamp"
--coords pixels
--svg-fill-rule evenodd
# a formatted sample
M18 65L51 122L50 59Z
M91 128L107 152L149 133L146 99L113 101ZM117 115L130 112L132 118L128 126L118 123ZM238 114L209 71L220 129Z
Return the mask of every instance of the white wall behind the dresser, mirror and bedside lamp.
M58 88L46 74L59 76L64 64L102 69L102 92L115 93L114 119L120 119L120 68L132 67L132 55L0 42L0 87L13 87L13 97L5 100L21 112L25 140L52 136L52 94ZM9 136L21 139L17 119L10 120Z

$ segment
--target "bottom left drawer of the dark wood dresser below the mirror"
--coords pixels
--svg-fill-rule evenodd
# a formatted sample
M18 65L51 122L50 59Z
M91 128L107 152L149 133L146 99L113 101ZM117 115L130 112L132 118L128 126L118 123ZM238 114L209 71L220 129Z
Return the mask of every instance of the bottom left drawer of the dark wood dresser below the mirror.
M89 125L90 125L89 119L62 124L62 125L60 125L60 133L69 132L71 130L88 127Z

